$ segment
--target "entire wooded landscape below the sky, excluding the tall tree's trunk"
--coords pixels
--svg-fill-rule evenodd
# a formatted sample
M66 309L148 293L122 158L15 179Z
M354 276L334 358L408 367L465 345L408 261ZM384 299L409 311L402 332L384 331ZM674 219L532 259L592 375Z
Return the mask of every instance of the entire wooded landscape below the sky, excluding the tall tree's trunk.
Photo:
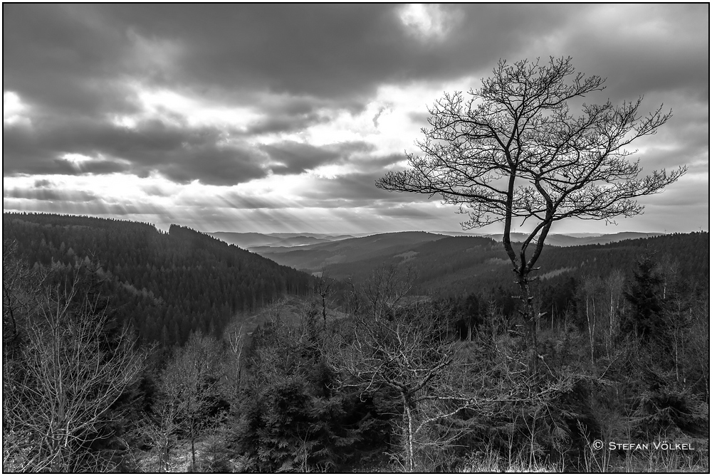
M4 471L709 470L708 233L545 248L535 362L488 238L321 277L177 225L3 240Z

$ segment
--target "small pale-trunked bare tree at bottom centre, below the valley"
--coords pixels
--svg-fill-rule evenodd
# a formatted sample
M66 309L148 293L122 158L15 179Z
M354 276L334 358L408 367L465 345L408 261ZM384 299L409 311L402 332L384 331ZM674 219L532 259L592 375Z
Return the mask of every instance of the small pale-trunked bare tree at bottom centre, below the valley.
M359 314L351 335L335 336L324 346L330 364L345 376L342 385L357 386L365 394L386 390L397 395L407 471L416 469L419 448L446 444L448 438L423 438L429 425L468 406L451 386L456 342L434 322L437 310L431 307L401 309L389 319Z

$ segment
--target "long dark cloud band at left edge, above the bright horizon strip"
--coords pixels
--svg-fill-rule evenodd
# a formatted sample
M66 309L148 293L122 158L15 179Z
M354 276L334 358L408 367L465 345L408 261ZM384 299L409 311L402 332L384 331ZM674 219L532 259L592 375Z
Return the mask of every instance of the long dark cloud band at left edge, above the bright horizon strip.
M266 176L256 151L223 145L224 132L180 127L160 120L129 129L91 120L38 120L3 129L3 174L107 174L157 171L173 181L234 185ZM63 154L93 160L72 162Z

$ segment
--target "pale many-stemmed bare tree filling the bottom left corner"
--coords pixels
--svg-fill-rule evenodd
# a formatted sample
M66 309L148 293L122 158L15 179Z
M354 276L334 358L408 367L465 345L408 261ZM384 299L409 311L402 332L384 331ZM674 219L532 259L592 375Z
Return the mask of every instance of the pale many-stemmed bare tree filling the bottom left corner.
M4 445L4 467L96 470L98 461L82 466L92 456L85 447L112 421L110 408L143 369L145 351L135 348L127 328L109 342L99 297L80 293L78 282L77 271L73 282L43 289L23 322L25 342L16 356L22 371L9 381L4 375L4 433L19 442L11 451Z

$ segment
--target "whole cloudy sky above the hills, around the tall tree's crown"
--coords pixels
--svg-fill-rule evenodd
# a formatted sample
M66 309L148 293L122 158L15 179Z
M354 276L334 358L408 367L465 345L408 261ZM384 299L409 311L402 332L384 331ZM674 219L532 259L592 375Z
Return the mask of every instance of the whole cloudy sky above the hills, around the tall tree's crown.
M618 226L709 229L709 6L3 6L3 208L202 231L457 231L434 198L374 186L443 92L499 58L570 55L587 102L661 103L646 171L688 173ZM484 231L495 233L501 225Z

